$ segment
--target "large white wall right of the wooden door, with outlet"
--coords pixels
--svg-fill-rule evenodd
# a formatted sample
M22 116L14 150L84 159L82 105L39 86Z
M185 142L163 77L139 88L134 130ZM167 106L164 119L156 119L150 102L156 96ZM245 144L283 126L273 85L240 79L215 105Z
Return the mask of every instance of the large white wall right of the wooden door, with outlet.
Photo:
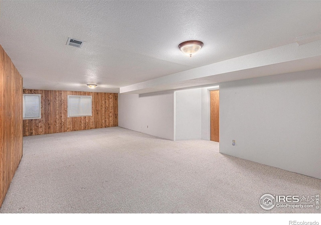
M320 179L321 69L221 83L220 152Z

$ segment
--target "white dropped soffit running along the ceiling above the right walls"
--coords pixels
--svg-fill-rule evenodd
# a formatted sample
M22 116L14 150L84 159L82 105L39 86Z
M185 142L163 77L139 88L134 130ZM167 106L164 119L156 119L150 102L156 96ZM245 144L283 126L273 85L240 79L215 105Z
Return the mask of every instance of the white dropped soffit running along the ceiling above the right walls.
M294 42L120 87L119 92L138 94L148 93L317 69L321 68L320 58L321 40L302 45L298 45ZM262 70L260 68L262 68Z

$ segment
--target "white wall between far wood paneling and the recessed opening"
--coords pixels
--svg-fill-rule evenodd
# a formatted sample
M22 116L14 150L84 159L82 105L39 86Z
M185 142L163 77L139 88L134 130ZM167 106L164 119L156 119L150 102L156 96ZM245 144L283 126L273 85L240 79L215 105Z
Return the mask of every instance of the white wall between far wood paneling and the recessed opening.
M118 125L174 139L174 91L118 95ZM147 128L148 125L148 128Z

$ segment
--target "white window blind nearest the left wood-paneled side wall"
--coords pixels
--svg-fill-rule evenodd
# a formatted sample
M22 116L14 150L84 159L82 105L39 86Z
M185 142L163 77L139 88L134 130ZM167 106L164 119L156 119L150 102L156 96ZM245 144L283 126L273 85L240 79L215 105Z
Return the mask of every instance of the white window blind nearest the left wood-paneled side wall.
M23 95L23 118L41 118L41 94Z

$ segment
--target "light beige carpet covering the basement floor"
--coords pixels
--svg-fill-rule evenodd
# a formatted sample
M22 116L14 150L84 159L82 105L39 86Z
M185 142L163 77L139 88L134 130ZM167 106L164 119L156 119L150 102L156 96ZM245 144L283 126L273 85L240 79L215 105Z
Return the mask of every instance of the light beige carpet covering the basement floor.
M171 141L120 127L24 137L0 212L320 212L262 209L264 193L314 195L321 180L218 149L213 141Z

